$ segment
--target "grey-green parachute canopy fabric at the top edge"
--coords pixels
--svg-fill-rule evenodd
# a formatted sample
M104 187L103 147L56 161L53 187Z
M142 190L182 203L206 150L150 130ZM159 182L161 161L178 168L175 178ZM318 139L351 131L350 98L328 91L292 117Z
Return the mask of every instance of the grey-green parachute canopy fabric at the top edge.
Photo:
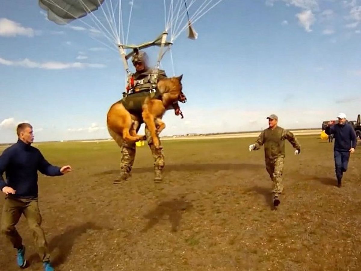
M65 25L97 10L104 0L39 0L39 6L48 12L48 19Z

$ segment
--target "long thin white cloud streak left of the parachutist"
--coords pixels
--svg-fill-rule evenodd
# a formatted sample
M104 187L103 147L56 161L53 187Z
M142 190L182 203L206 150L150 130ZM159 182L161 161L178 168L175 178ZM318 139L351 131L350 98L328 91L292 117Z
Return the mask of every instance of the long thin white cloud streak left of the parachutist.
M49 61L44 63L38 63L29 59L23 59L19 61L6 60L0 57L0 64L6 66L20 66L25 68L39 68L47 70L61 70L61 69L84 69L84 68L105 68L104 64L96 63L62 63L57 61Z

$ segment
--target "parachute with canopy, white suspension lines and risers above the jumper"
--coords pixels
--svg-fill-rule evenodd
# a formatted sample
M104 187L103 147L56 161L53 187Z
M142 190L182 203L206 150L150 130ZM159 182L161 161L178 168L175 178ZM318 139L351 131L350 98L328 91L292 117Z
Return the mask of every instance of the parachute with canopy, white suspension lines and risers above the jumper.
M79 21L84 27L73 29L88 30L91 38L98 40L104 46L120 53L126 72L129 74L127 60L135 51L151 46L159 46L156 68L174 40L188 29L188 38L197 39L198 33L193 24L213 9L223 0L163 0L163 1L138 1L137 10L146 9L147 6L156 10L154 20L162 20L164 15L164 29L159 30L158 36L150 42L142 44L128 44L129 30L134 2L138 0L39 0L39 6L47 11L48 20L59 25L66 25L71 21ZM162 3L163 2L163 3ZM151 6L150 6L151 5ZM130 6L130 8L129 8ZM99 10L98 10L99 9ZM126 10L130 9L128 22L125 23ZM164 9L162 12L161 9ZM163 13L163 14L162 14ZM84 18L83 18L84 17ZM136 33L139 33L138 29ZM161 33L161 34L160 34ZM103 36L104 41L100 38ZM131 52L126 51L130 49ZM171 51L170 51L171 55ZM173 66L173 57L171 55ZM174 67L173 67L174 71Z

